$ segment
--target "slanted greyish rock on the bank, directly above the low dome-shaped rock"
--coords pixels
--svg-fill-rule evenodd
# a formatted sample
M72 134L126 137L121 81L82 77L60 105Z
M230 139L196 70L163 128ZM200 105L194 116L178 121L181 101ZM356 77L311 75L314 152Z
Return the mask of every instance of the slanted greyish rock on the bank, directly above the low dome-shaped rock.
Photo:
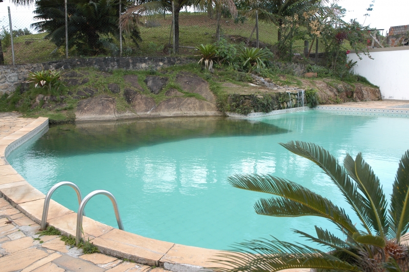
M216 103L216 97L209 88L209 83L202 78L188 73L176 76L176 83L188 93L199 94L210 103Z

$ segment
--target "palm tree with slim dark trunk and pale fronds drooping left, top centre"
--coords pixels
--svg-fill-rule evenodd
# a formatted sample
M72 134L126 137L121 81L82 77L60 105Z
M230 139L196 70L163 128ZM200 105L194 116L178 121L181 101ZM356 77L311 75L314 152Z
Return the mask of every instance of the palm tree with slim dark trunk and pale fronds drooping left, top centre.
M175 50L176 54L179 53L179 13L185 6L190 6L193 0L174 0L175 6ZM135 1L134 6L130 6L124 14L121 16L121 26L122 29L126 30L127 25L131 25L129 22L132 21L133 24L140 24L141 16L153 15L153 14L164 14L165 12L172 12L172 0L138 0Z

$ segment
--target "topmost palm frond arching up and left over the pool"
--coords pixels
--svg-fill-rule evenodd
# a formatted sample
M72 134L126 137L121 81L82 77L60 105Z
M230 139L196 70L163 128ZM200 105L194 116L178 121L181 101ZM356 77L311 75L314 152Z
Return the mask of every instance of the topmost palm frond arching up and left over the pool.
M338 160L323 147L300 141L280 143L290 152L308 158L319 166L331 178L345 199L359 217L362 226L371 234L371 220L367 213L368 201L358 192L356 184L347 175L345 168L339 165Z

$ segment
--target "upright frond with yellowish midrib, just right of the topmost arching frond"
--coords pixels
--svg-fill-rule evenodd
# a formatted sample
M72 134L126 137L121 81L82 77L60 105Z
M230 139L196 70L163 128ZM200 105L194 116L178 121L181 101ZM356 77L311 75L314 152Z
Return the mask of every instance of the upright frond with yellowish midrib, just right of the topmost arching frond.
M388 233L387 201L379 183L378 177L372 171L372 168L363 158L362 153L354 159L347 154L344 160L344 167L349 176L355 180L358 189L368 199L367 212L371 219L372 227L382 238Z

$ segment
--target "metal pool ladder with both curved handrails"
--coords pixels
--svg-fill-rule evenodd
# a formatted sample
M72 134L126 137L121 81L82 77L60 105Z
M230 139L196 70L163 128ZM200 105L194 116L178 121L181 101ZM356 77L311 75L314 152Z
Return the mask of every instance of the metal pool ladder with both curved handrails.
M78 188L77 185L75 185L72 182L57 183L56 185L51 187L51 189L48 191L46 198L44 199L44 208L42 210L40 230L45 230L47 226L47 215L48 215L48 210L50 206L51 195L54 193L54 191L57 188L63 185L70 186L75 190L75 192L77 193L77 198L79 202L78 213L77 213L77 228L76 228L77 232L76 232L76 237L75 237L75 244L78 244L81 241L82 217L85 215L85 211L84 211L85 205L89 201L89 199L93 198L96 195L101 195L101 194L106 195L111 200L113 211L115 212L115 217L117 218L118 228L122 231L124 230L124 225L122 224L121 215L119 214L119 210L118 210L117 199L115 198L115 196L113 196L113 194L111 194L110 192L106 190L96 190L96 191L90 192L84 198L82 198L80 189Z

